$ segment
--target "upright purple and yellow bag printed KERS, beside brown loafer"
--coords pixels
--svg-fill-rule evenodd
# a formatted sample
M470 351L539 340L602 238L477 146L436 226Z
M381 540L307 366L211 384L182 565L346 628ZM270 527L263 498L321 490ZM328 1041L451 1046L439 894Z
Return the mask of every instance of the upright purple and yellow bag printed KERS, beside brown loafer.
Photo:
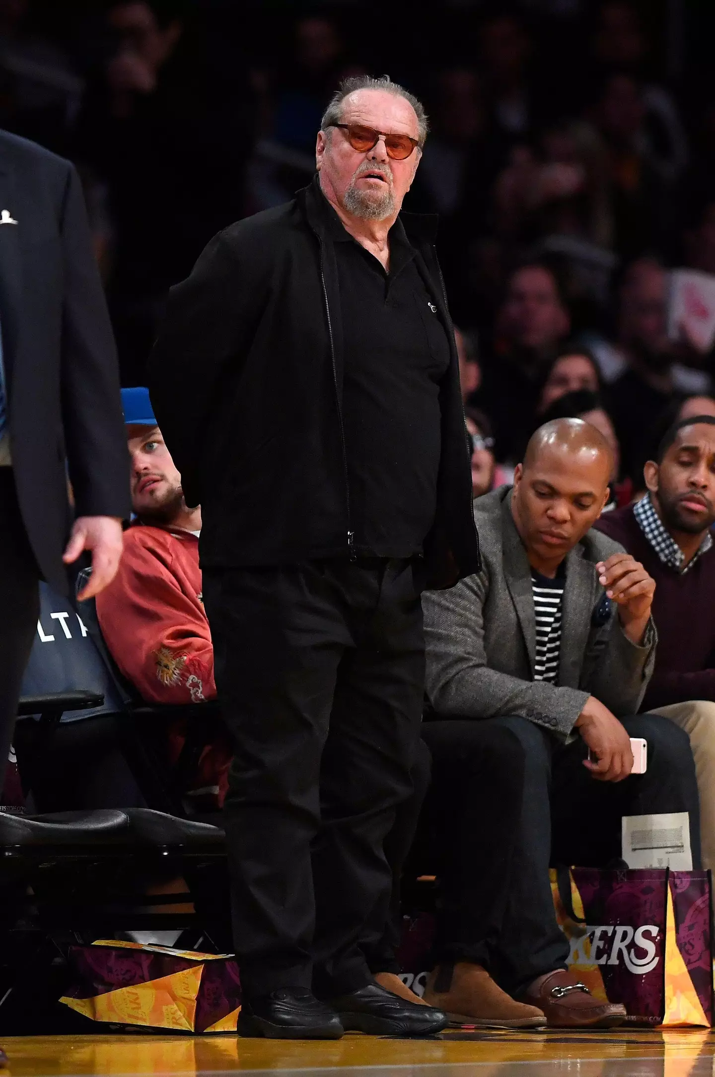
M569 966L633 1024L713 1023L710 871L551 870Z

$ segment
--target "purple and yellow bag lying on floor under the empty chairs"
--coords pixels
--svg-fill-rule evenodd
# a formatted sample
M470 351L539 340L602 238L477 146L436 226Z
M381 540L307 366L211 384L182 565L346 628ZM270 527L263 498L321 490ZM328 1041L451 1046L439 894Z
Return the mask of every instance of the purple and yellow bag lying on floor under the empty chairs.
M230 954L98 941L70 948L75 987L61 1003L92 1021L172 1032L236 1032L241 1003Z

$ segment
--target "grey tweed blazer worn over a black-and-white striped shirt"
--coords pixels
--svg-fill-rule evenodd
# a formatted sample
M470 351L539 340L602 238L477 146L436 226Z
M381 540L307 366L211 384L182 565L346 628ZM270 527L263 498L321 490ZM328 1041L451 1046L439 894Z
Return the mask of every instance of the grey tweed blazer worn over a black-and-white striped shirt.
M589 696L619 717L635 714L653 673L655 625L642 646L631 643L595 572L622 546L590 530L567 555L558 684L534 681L531 569L510 501L507 486L475 501L481 572L422 596L426 691L436 715L520 715L565 738Z

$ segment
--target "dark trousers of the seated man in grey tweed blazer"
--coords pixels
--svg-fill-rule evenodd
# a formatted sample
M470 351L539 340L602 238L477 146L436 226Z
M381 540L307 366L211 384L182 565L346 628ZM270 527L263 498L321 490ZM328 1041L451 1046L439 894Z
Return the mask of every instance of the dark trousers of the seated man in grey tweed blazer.
M518 995L565 967L550 864L604 866L621 854L621 816L687 811L693 868L700 867L700 810L690 744L660 715L623 719L648 742L648 769L617 784L583 766L580 738L567 745L520 717L426 723L432 788L420 826L440 853L438 961L487 967Z

